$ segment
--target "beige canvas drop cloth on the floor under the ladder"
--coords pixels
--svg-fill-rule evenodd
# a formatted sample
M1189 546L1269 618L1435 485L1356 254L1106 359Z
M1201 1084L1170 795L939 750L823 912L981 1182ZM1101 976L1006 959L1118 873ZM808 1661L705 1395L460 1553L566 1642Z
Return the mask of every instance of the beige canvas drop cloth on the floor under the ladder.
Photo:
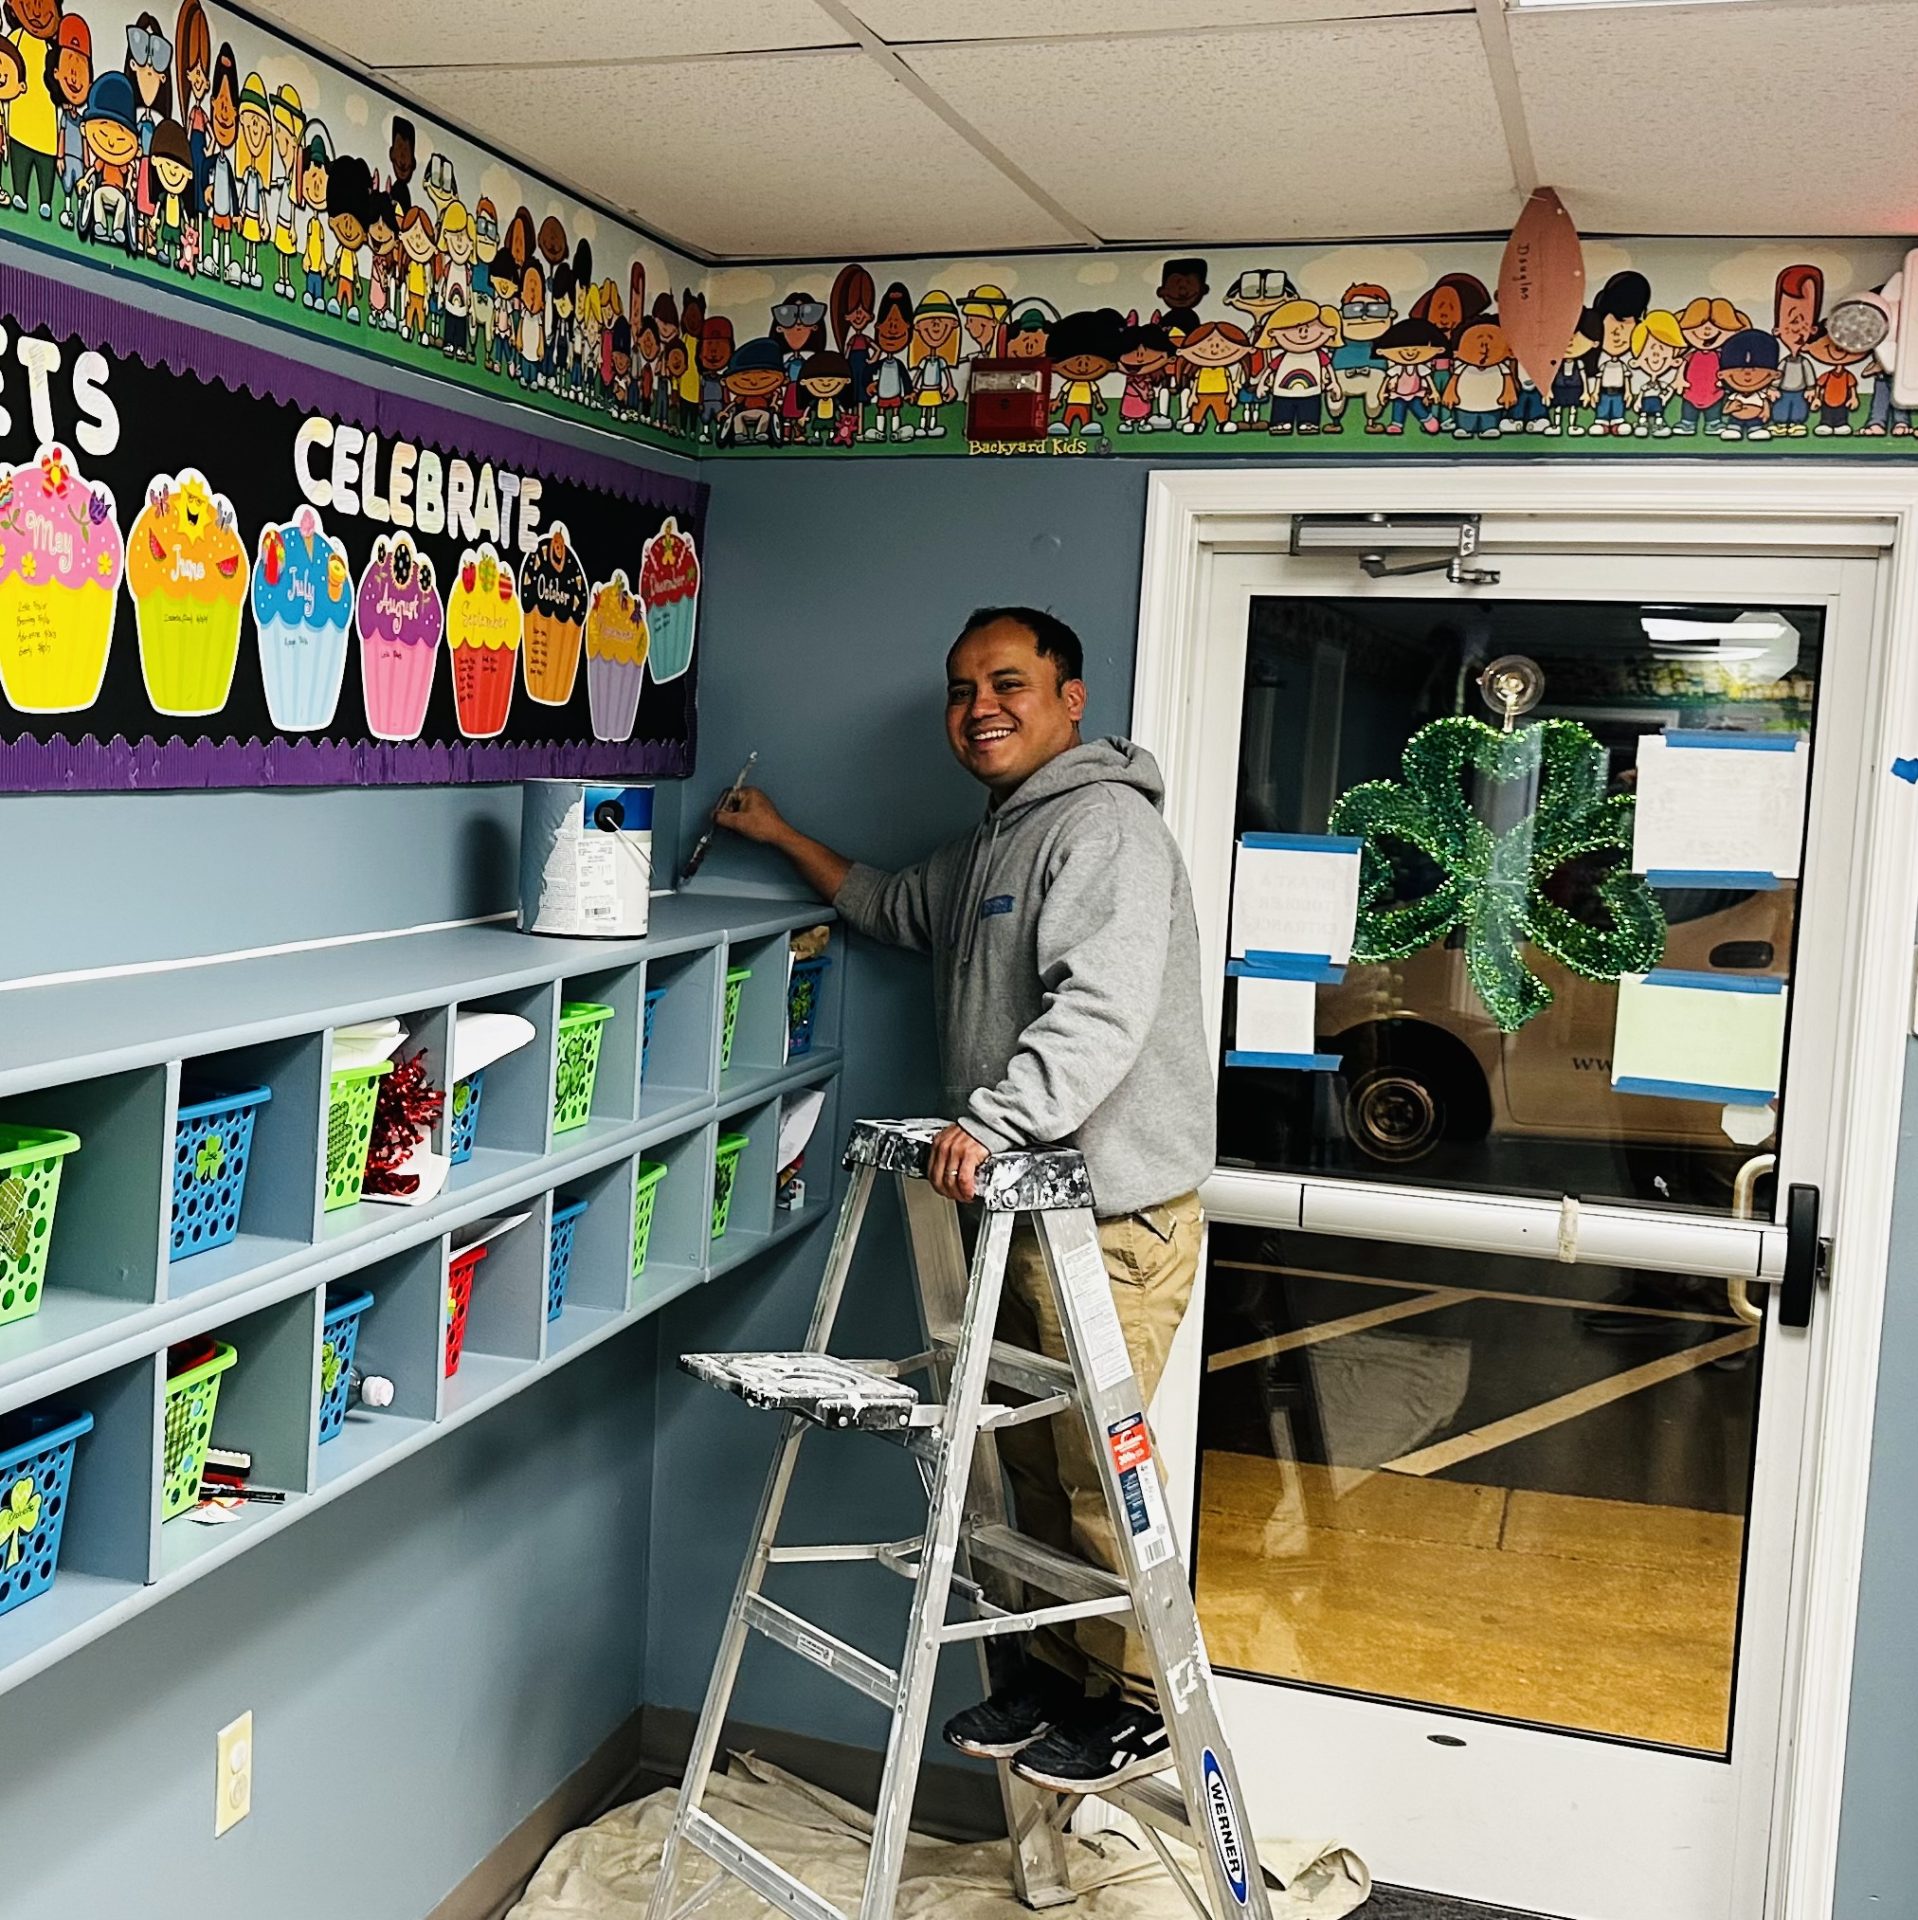
M507 1920L645 1920L659 1870L659 1849L672 1824L674 1791L651 1793L568 1834L534 1874ZM866 1876L872 1816L806 1786L753 1755L733 1755L728 1774L707 1789L707 1811L787 1872L797 1874L841 1912L856 1910ZM1192 1920L1158 1857L1119 1832L1067 1836L1077 1920ZM1371 1874L1344 1847L1261 1839L1261 1857L1286 1884L1273 1893L1284 1920L1342 1920L1371 1893ZM1173 1849L1188 1870L1196 1860ZM687 1849L678 1893L683 1901L716 1868ZM958 1845L914 1834L899 1885L900 1916L939 1920L1027 1920L1012 1897L1006 1841ZM701 1920L764 1920L772 1908L737 1880L728 1880L699 1907Z

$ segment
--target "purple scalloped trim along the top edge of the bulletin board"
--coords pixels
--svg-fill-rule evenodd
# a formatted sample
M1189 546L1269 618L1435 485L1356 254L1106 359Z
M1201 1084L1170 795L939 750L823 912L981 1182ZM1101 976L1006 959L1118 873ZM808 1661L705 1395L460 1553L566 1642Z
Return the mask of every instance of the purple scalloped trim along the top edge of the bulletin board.
M307 413L332 413L372 428L382 440L403 434L407 440L478 455L520 472L551 474L555 480L570 480L574 486L664 507L689 518L697 518L705 505L705 482L664 474L637 459L593 453L457 407L388 394L365 380L146 313L131 301L65 286L31 273L12 255L6 255L4 265L6 292L0 294L0 309L19 326L44 328L60 340L84 340L90 348L111 348L148 367L217 380L230 392L246 392L255 399L275 399Z

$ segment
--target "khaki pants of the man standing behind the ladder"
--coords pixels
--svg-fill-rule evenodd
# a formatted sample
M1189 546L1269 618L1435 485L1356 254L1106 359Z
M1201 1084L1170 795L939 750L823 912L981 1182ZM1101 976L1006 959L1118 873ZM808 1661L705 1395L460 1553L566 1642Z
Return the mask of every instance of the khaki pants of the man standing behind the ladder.
M1183 1194L1165 1206L1098 1223L1112 1298L1144 1405L1152 1402L1173 1334L1192 1298L1200 1223L1198 1194ZM1006 1261L998 1336L1054 1359L1067 1357L1039 1238L1023 1223L1012 1236ZM1098 1478L1098 1457L1077 1411L1008 1428L1000 1434L998 1457L1021 1532L1062 1553L1119 1571L1117 1536ZM1046 1597L1035 1597L1033 1603L1044 1605ZM1073 1680L1089 1682L1092 1692L1115 1688L1137 1699L1152 1699L1152 1668L1129 1615L1046 1628L1035 1636L1033 1653Z

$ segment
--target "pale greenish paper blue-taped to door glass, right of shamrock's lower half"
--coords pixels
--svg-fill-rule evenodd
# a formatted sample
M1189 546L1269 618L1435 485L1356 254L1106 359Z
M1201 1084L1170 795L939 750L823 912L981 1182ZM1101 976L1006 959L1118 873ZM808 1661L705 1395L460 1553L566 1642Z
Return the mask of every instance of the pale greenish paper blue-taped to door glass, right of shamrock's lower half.
M1764 1106L1778 1098L1787 1000L1782 979L1751 973L1624 973L1611 1083L1666 1100Z

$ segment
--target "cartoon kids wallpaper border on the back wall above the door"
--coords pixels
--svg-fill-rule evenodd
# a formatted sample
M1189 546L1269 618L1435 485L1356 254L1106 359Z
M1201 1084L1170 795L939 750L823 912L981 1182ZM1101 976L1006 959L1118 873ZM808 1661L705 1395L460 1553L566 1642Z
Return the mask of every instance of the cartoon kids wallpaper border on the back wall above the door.
M1914 451L1893 242L1588 242L1544 392L1498 267L1490 242L914 261L883 290L856 261L718 267L708 328L722 296L795 292L735 315L724 365L701 353L699 434L751 457Z

